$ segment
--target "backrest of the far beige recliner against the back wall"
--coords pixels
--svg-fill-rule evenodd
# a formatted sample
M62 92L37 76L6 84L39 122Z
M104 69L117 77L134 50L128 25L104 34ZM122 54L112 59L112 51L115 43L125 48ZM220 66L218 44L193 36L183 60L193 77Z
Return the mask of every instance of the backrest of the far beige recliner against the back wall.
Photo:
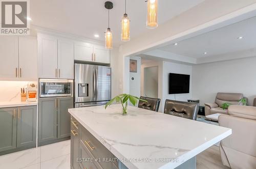
M217 93L215 103L221 107L223 103L230 103L233 105L238 105L239 100L243 98L242 93Z

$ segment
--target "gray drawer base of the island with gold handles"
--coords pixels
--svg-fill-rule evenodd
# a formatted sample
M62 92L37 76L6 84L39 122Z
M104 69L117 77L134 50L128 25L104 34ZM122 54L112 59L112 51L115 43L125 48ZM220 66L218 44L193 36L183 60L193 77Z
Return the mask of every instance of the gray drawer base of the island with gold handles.
M72 169L118 169L119 163L120 161L118 162L117 158L98 139L71 117Z

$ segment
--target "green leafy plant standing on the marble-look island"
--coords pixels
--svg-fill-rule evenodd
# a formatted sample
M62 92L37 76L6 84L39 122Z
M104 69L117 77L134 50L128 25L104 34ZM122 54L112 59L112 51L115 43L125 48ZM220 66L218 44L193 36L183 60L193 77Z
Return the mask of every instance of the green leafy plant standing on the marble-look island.
M117 102L117 103L121 103L122 105L122 114L126 115L127 114L127 105L128 105L128 101L130 101L134 106L137 104L137 101L141 100L144 102L147 102L146 100L140 99L136 96L132 96L129 94L121 94L121 95L117 95L116 97L114 97L113 99L111 99L108 103L106 103L105 105L105 109L106 107L108 107L109 105L111 105L113 102Z

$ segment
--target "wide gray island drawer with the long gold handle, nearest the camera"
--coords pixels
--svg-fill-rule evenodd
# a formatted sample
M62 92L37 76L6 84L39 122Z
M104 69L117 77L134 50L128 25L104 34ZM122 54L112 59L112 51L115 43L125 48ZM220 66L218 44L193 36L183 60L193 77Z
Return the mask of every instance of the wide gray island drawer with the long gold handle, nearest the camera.
M80 142L92 153L93 158L99 159L102 168L112 168L112 162L105 162L105 159L113 157L112 153L85 128L81 129Z

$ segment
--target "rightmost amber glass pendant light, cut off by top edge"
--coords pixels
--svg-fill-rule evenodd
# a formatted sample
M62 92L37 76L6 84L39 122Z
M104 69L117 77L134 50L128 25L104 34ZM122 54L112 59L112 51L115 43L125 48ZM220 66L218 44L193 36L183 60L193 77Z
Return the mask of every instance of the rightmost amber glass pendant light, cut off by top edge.
M147 28L155 29L157 24L157 0L147 0Z

